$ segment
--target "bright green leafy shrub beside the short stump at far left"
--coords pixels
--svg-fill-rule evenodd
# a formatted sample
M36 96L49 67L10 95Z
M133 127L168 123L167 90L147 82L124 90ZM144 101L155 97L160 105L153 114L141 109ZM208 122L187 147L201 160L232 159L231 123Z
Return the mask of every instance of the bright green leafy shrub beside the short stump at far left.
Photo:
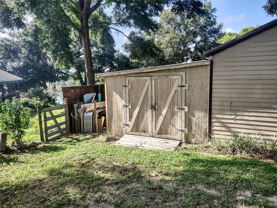
M9 138L20 144L25 129L29 126L31 110L24 107L23 101L12 99L0 103L0 129L8 132Z

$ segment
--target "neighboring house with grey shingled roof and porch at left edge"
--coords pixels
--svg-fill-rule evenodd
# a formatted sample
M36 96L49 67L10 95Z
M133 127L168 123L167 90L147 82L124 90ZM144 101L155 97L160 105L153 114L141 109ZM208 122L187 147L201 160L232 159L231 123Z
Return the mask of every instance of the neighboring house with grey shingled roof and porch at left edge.
M17 99L20 98L20 80L22 80L22 78L0 69L1 101L5 101L7 99L11 100L13 97L16 97Z

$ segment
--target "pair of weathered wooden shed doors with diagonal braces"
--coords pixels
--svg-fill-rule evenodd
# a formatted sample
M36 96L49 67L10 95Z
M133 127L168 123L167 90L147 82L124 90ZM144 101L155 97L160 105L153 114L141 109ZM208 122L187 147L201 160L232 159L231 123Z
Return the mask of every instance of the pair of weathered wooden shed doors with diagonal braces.
M126 133L181 140L182 78L126 77Z

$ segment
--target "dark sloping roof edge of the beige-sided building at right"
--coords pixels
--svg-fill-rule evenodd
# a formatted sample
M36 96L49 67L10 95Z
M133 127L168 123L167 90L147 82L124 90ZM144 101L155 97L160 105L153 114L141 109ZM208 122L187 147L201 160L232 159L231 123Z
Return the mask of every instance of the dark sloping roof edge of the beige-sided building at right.
M248 38L251 38L251 37L267 30L267 29L270 29L270 28L276 26L276 25L277 25L277 19L272 20L269 23L266 23L266 24L264 24L260 27L257 27L256 29L253 29L253 30L251 30L251 31L249 31L249 32L237 37L237 38L234 38L233 40L230 40L226 43L223 43L223 44L221 44L221 45L219 45L219 46L203 53L203 57L209 59L209 56L212 56L212 55L214 55L214 54L216 54L220 51L223 51L223 50L225 50L225 49L227 49L227 48L229 48L229 47L231 47L231 46L233 46L233 45L235 45L239 42L242 42L242 41L244 41Z

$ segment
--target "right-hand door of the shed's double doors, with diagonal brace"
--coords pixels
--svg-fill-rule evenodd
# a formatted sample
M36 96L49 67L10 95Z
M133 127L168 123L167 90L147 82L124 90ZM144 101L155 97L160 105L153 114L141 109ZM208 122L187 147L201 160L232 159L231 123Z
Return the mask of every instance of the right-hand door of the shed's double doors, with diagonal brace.
M152 77L153 137L181 140L181 85L182 76Z

